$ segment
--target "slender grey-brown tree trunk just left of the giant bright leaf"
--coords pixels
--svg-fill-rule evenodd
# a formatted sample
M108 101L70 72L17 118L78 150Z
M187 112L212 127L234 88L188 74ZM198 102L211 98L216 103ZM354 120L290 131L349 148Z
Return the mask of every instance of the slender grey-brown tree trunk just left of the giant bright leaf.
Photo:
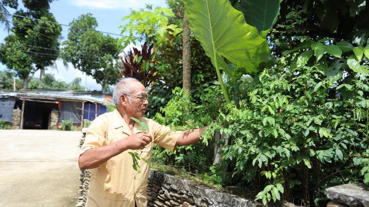
M186 14L183 16L183 88L186 93L191 92L191 34Z

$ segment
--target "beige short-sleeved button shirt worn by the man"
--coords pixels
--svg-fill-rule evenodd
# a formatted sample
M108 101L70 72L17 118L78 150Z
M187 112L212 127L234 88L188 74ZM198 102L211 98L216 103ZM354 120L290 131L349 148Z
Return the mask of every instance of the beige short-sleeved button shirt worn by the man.
M153 143L173 152L181 132L171 131L151 119L139 120L149 125L146 132L151 134L153 141L142 151L124 151L92 169L86 207L134 207L135 200L137 207L147 207L146 186L150 167L146 162L138 160L138 170L141 172L137 173L128 152L137 152L141 158L151 161ZM133 133L142 131L137 130L140 127L140 124L135 123ZM117 109L100 115L91 123L80 155L91 148L112 144L129 135L131 131Z

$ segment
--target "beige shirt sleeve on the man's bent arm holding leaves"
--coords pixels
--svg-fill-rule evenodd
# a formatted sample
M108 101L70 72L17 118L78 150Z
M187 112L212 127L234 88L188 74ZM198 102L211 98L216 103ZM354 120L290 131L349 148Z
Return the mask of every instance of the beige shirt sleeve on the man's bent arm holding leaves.
M87 130L85 142L79 151L80 155L87 150L105 145L106 122L107 120L105 116L99 116L92 121L89 129Z

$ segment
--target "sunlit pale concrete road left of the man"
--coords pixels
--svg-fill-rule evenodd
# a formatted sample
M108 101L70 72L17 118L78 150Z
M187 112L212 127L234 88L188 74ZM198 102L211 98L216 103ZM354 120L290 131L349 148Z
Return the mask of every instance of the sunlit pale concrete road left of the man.
M0 130L0 207L75 207L81 132Z

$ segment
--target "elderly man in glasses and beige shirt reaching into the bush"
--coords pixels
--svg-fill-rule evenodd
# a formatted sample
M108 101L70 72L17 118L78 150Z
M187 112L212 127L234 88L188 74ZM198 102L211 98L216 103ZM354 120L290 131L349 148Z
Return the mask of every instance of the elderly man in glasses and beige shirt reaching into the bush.
M139 160L138 173L128 153L138 152L141 158L151 160L154 143L173 152L177 145L200 140L205 128L173 132L143 118L149 104L147 96L141 82L123 78L113 92L117 109L91 123L78 159L81 170L92 169L86 207L147 207L149 165ZM138 130L142 126L131 117L149 125L147 130Z

